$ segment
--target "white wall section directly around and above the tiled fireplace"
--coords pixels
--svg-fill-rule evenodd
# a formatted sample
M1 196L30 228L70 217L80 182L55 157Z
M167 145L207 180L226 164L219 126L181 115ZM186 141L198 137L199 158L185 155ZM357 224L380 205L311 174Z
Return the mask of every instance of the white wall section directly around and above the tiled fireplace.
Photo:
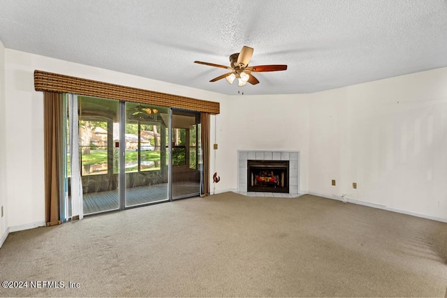
M308 189L307 95L231 96L217 116L216 192L237 190L237 150L300 151L300 191ZM223 107L223 108L222 108ZM219 117L225 117L219 119Z

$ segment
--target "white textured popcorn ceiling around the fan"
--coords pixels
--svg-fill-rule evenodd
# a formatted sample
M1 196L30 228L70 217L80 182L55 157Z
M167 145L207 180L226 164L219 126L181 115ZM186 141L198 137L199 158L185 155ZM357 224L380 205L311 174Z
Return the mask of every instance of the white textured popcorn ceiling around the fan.
M0 40L41 54L221 94L299 94L447 66L447 0L1 0ZM238 87L226 72L287 64Z

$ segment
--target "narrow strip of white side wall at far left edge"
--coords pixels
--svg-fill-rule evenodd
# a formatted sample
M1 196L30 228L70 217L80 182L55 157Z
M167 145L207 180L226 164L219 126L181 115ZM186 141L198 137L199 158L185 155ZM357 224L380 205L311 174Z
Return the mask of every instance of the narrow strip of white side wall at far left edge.
M0 217L0 246L6 238L8 229L6 187L5 47L3 47L3 43L0 40L0 207L3 206L4 211L3 217Z

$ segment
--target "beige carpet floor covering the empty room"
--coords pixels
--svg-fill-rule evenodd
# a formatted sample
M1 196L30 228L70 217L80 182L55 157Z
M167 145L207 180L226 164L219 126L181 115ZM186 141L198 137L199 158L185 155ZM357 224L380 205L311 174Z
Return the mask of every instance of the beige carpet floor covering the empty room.
M0 296L446 297L446 246L447 223L221 193L10 233L0 280L28 288Z

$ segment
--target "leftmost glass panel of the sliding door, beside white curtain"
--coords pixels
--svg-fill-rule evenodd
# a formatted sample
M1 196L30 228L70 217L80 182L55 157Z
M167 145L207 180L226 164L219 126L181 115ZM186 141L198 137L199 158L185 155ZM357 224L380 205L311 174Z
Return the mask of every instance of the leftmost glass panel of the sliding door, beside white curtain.
M119 209L119 102L78 97L84 214Z

